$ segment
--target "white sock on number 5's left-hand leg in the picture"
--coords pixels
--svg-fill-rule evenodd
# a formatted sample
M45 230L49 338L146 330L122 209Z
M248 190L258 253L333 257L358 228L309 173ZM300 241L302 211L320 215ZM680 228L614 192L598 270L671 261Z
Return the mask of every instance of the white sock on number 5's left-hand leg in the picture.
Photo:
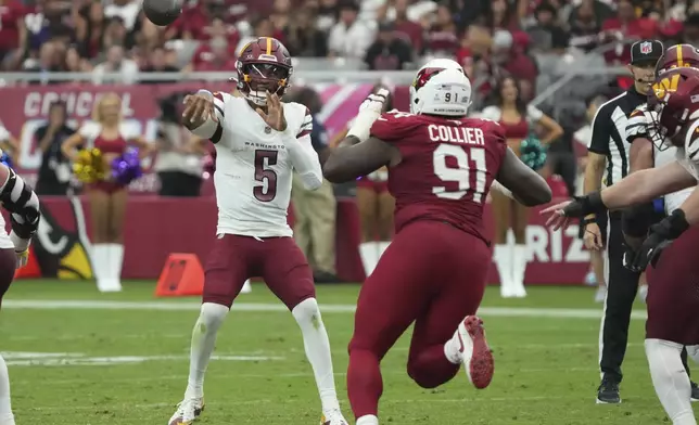
M228 314L228 307L220 304L204 302L192 332L192 347L189 359L189 381L185 398L200 398L204 395L204 374L208 360L214 352L216 334L224 319Z

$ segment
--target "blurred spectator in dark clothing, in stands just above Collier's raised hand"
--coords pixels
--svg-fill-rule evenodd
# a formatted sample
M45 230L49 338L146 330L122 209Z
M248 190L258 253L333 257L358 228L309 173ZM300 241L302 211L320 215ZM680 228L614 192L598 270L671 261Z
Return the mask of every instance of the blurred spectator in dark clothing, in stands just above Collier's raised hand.
M406 63L412 61L410 46L396 37L393 24L379 25L377 39L367 50L365 62L369 69L403 69Z

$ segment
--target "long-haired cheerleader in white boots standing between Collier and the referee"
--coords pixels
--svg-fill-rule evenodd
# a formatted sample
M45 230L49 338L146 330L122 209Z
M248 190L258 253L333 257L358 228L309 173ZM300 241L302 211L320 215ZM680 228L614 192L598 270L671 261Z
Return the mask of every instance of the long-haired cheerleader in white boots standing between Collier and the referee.
M522 141L528 139L535 126L541 125L546 134L541 142L548 145L563 134L563 129L550 117L522 99L519 82L512 77L500 79L493 94L495 102L480 115L498 123L505 130L508 146L520 155ZM495 263L500 275L503 297L525 297L524 272L526 270L526 226L529 209L498 191L492 192L495 218ZM507 241L512 229L514 245Z

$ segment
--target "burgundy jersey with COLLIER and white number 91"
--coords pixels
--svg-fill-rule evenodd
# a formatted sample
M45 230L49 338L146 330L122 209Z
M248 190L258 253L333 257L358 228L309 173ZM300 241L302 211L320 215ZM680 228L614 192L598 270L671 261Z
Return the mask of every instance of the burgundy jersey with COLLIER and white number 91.
M371 136L403 157L389 168L396 232L415 220L435 220L487 241L483 205L507 150L497 123L392 112L374 121Z

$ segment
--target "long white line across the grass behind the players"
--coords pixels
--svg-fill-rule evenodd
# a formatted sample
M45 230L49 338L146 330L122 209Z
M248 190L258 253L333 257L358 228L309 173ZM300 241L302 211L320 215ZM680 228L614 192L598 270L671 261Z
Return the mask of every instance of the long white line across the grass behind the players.
M3 309L34 310L161 310L161 311L198 311L199 302L167 302L167 301L104 301L104 300L41 300L41 299L7 299L2 301ZM289 311L282 304L238 302L236 311ZM354 305L325 304L320 306L323 313L351 313ZM531 318L568 318L599 320L601 309L564 309L564 308L529 308L529 307L482 307L479 314L491 317L531 317ZM632 313L634 320L645 320L646 311L637 310Z

